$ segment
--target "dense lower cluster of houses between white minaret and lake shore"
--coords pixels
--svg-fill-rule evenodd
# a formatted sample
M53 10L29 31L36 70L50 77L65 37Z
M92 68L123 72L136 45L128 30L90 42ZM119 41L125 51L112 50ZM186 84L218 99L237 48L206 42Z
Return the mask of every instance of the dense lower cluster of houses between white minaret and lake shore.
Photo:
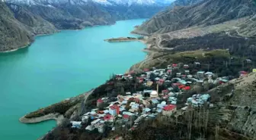
M108 98L99 98L97 108L82 115L82 121L72 121L72 128L80 129L83 124L88 124L88 121L92 120L85 128L88 131L98 129L98 132L104 132L107 127L115 130L117 124L133 130L143 120L155 119L158 114L168 117L174 114L177 108L175 104L168 104L171 103L168 99L162 99L153 90L150 97L145 98L143 95L146 92L126 92L126 95L118 95L117 101L112 102L107 102Z

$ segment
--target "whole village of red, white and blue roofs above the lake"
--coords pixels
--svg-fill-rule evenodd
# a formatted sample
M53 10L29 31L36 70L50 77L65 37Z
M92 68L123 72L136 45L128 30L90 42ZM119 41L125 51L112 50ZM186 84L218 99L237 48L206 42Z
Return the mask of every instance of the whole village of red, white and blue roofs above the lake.
M194 62L194 67L200 67ZM199 68L200 69L200 68ZM135 76L136 74L136 76ZM248 72L240 71L239 76L246 76ZM210 88L229 82L228 76L218 77L210 71L191 71L188 64L171 64L165 69L144 69L142 73L115 75L117 80L136 79L139 84L148 87L139 92L125 92L116 98L98 98L97 107L82 115L81 120L71 121L72 129L85 128L86 131L104 133L125 128L133 131L142 122L154 120L159 115L172 117L181 114L189 108L201 106L214 107L211 97L207 93L198 92L191 95L185 102L179 101L179 96L187 94L195 87ZM156 89L152 85L156 85ZM159 90L159 86L165 89Z

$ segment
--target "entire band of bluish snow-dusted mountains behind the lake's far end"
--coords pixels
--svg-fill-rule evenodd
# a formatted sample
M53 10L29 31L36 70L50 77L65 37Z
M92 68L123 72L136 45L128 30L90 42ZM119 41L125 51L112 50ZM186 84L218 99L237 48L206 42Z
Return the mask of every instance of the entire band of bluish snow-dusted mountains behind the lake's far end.
M152 17L171 1L155 0L6 0L53 23L59 30L81 29L85 26L112 24L116 20Z

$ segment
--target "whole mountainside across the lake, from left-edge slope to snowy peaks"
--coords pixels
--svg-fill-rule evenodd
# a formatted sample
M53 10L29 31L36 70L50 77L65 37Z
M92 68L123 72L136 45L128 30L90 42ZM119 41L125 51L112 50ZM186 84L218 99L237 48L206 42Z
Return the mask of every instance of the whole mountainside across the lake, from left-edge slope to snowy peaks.
M34 42L34 36L59 30L82 30L88 26L112 25L117 20L149 18L171 2L4 0L0 2L0 51L29 46ZM10 26L13 26L12 32Z

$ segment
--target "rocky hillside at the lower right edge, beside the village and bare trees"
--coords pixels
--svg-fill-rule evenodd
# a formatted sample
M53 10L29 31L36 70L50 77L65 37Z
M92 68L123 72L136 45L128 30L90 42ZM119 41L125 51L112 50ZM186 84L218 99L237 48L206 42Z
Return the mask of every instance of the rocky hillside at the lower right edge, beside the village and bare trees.
M256 138L256 73L233 79L229 84L219 87L219 90L217 96L222 101L222 106L232 110L232 114L222 112L223 116L231 116L226 120L224 128L251 139ZM216 89L210 91L213 94L214 92Z

